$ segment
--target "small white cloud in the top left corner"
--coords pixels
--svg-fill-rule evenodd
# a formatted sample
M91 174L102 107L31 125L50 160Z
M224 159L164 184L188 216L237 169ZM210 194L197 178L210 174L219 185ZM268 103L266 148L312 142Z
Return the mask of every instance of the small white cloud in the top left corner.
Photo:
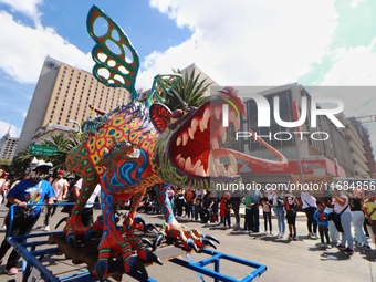
M0 3L9 4L12 11L20 12L34 21L35 27L39 27L42 13L38 6L43 3L43 0L0 0Z

